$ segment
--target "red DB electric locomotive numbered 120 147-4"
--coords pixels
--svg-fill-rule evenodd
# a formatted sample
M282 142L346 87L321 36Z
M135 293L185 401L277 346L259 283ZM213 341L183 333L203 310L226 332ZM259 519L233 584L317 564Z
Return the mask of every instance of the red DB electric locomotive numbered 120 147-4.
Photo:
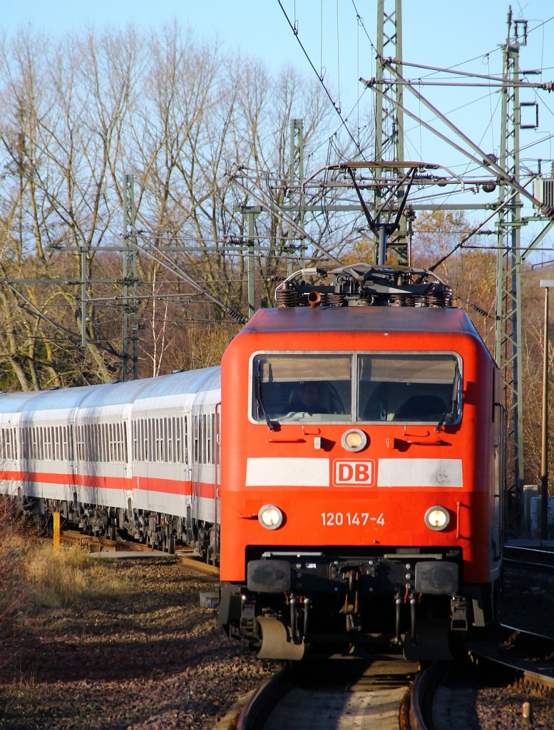
M288 282L222 361L219 620L266 658L377 635L447 656L494 610L495 367L428 272L331 273Z

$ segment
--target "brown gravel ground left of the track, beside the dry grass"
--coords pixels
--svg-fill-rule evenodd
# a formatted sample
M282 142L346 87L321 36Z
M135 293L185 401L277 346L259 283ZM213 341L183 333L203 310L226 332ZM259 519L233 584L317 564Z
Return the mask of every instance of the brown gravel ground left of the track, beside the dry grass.
M2 730L155 730L217 725L274 670L217 626L177 562L114 561L118 588L20 616L2 640Z

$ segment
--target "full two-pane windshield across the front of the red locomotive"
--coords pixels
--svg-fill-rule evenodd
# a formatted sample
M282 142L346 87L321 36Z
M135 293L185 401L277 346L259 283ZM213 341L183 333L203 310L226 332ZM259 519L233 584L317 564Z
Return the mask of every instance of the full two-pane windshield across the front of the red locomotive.
M253 418L455 423L458 358L450 353L263 353L253 358Z

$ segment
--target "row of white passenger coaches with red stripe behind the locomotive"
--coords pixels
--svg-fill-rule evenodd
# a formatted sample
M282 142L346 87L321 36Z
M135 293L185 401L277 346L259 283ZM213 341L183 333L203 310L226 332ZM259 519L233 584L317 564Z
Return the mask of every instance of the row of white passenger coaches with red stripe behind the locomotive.
M218 560L220 368L0 396L0 493Z

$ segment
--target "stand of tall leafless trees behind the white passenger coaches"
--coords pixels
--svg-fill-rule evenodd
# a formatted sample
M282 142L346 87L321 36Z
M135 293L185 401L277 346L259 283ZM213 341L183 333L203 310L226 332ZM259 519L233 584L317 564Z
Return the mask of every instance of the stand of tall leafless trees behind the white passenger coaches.
M252 201L229 173L247 169L286 206L291 117L304 119L307 167L326 160L336 120L320 86L293 69L273 77L173 23L148 35L86 30L56 43L27 30L4 37L0 100L4 387L120 372L126 173L136 193L133 306L147 325L141 372L217 360L236 331L226 312L247 301L237 208ZM307 225L336 250L347 246L349 231L334 236L325 219ZM290 239L274 215L255 228L259 301L269 298L266 278L285 270ZM200 328L213 346L199 347Z

